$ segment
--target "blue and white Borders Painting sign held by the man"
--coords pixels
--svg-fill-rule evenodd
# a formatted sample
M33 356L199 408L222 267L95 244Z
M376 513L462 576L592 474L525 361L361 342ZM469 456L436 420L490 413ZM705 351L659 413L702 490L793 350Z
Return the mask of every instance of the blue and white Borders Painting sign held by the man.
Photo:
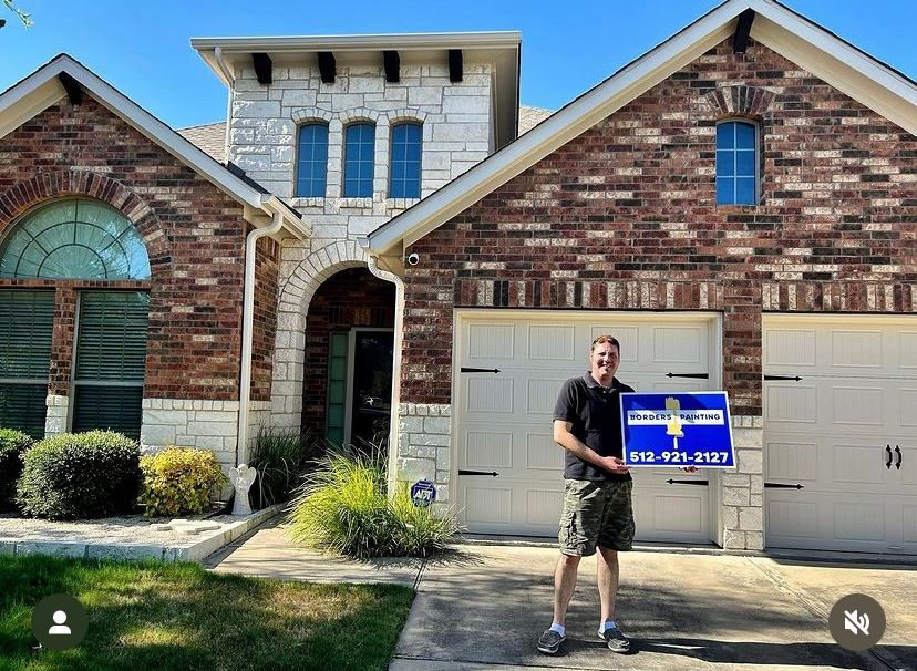
M628 466L734 468L725 392L621 394Z

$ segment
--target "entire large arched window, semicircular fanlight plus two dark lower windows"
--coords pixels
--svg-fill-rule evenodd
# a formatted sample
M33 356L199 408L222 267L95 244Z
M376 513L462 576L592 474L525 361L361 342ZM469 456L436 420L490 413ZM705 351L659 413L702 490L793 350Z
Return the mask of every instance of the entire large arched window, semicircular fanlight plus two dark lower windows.
M150 297L123 283L109 289L104 280L150 277L146 246L133 224L97 200L49 203L0 241L0 279L93 280L79 290L76 338L66 343L75 352L68 392L72 431L140 437ZM0 426L43 436L59 309L53 288L0 291Z

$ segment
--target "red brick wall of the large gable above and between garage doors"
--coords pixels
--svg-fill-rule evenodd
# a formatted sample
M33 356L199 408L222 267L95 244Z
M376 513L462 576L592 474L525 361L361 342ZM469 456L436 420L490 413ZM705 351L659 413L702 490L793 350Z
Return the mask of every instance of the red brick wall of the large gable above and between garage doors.
M715 205L715 123L760 124L761 202ZM450 403L455 307L723 312L761 414L763 310L917 310L915 137L727 40L408 250L403 403Z

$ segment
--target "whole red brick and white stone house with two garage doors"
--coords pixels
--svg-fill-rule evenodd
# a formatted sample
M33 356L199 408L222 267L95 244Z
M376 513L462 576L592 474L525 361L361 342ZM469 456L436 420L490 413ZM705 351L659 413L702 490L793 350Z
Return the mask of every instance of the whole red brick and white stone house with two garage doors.
M552 535L550 410L610 331L638 390L725 389L739 448L735 472L639 472L638 538L917 551L911 80L774 0L544 121L516 33L193 47L229 113L184 137L65 58L0 95L0 348L31 348L0 357L0 423L114 422L116 386L145 443L229 465L262 425L349 442L389 417L393 478L472 531ZM43 268L13 242L83 200L113 273L9 270Z

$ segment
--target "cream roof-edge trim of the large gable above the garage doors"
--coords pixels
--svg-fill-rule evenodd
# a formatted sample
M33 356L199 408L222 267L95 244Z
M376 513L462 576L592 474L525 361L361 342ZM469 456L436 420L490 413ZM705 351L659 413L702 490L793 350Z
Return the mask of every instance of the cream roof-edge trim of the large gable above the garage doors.
M594 86L530 133L361 240L375 255L404 248L735 33L753 10L751 38L917 135L917 84L776 0L727 0Z

